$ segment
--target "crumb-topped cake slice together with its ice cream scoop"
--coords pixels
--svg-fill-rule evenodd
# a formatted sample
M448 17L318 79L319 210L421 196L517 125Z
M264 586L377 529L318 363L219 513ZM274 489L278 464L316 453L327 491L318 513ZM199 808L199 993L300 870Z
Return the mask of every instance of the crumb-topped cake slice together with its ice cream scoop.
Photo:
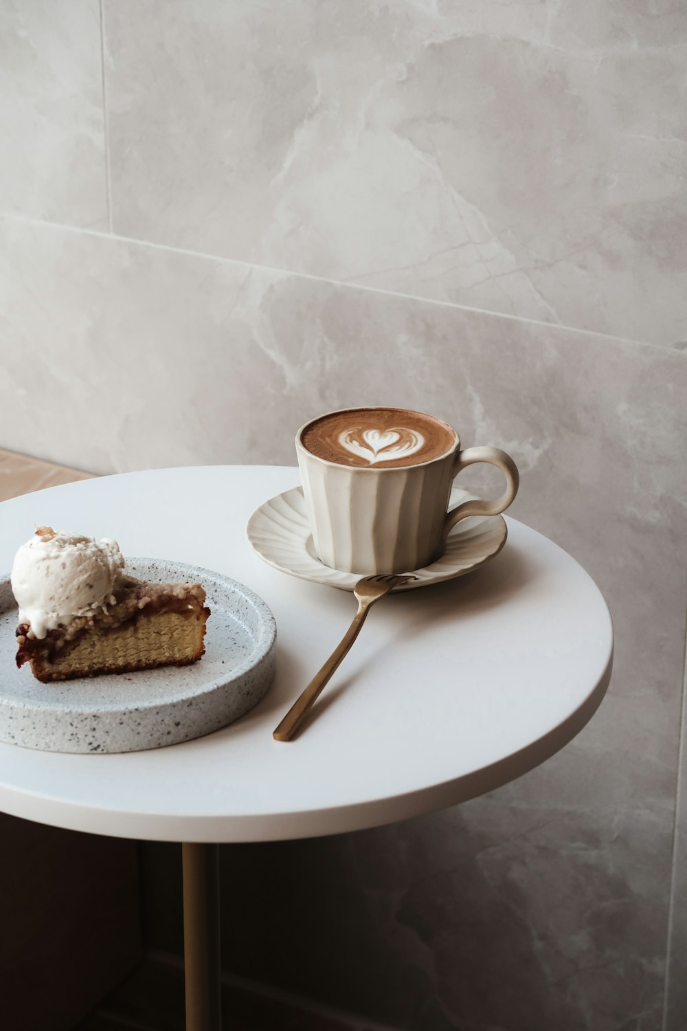
M126 575L114 540L39 527L16 553L11 585L16 665L43 683L183 666L205 652L201 585Z

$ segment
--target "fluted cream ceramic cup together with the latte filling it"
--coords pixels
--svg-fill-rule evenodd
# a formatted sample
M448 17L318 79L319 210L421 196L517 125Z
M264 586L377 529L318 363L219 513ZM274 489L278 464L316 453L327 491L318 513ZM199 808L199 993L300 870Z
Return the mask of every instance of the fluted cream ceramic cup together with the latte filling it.
M427 419L441 427L443 444L441 454L424 459L421 421ZM317 455L310 440L313 429L325 421L337 435L331 446L317 446ZM406 408L345 408L320 415L301 427L296 451L318 558L333 569L360 575L430 565L443 554L446 537L459 520L497 516L518 490L518 470L506 452L460 451L458 434L448 423ZM465 501L447 511L454 477L475 462L501 469L505 493L495 501Z

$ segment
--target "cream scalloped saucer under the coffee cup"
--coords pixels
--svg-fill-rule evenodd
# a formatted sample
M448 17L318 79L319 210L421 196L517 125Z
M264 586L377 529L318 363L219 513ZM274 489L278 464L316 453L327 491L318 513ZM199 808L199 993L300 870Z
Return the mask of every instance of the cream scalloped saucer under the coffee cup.
M473 494L454 487L450 507L473 498ZM277 494L257 508L246 526L252 550L268 565L291 576L327 584L342 591L352 591L360 576L323 565L315 555L310 524L305 510L303 490L294 487ZM441 559L424 569L412 569L417 577L398 591L412 591L428 584L462 576L497 555L506 543L508 529L503 516L470 516L451 530Z

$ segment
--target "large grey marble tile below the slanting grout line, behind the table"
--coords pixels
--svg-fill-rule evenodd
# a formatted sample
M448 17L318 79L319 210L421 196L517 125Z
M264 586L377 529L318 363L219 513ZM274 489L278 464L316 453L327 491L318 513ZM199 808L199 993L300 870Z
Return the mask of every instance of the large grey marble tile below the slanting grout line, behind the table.
M611 605L609 696L539 770L398 827L227 850L227 964L406 1029L657 1031L687 356L56 227L1 240L0 444L103 472L288 463L321 410L428 409L511 451L513 514Z

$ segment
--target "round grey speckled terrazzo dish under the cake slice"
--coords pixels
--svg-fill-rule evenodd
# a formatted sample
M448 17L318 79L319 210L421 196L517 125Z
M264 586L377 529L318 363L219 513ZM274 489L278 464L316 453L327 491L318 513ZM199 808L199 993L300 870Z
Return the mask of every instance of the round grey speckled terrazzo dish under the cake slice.
M209 734L244 716L274 678L276 625L243 584L208 569L127 559L126 572L153 583L191 580L207 592L205 655L165 666L41 684L16 668L16 602L0 579L0 741L43 752L139 752Z

